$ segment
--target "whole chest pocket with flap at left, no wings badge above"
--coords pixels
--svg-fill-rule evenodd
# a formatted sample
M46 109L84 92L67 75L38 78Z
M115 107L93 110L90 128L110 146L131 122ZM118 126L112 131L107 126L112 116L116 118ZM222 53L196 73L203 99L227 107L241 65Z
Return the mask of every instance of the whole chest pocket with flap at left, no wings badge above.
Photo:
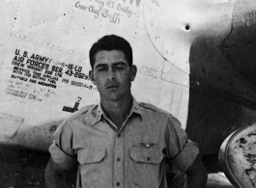
M105 187L106 149L83 148L78 150L80 182L82 187Z

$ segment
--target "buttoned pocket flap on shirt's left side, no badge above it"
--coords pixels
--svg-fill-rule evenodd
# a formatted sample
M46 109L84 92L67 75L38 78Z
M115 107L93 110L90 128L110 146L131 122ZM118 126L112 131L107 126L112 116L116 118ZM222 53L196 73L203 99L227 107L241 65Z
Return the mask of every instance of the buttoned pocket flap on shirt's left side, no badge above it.
M105 148L84 148L78 151L77 160L80 164L99 163L105 154Z

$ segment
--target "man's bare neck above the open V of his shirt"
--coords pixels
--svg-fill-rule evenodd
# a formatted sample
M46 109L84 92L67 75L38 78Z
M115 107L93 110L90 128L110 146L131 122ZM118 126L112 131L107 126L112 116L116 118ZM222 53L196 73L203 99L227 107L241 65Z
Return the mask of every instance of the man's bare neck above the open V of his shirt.
M116 100L100 97L100 105L107 118L120 129L128 118L132 105L132 96L131 94L127 94Z

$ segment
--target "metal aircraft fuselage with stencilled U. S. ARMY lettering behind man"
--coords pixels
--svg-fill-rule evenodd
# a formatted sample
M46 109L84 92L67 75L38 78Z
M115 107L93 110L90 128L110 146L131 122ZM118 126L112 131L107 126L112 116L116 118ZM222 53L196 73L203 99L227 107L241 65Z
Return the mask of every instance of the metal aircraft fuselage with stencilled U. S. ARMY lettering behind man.
M0 0L0 20L1 145L45 152L63 120L99 102L89 50L110 34L132 46L132 94L182 122L208 172L256 121L254 0Z

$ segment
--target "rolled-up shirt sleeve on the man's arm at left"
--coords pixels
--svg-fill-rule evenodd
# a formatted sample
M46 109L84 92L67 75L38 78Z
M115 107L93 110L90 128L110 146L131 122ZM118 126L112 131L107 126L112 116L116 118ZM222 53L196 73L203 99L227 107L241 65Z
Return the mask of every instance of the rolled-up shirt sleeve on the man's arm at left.
M49 148L52 160L65 170L71 169L76 162L72 149L72 130L69 121L64 121L54 134L53 144Z

